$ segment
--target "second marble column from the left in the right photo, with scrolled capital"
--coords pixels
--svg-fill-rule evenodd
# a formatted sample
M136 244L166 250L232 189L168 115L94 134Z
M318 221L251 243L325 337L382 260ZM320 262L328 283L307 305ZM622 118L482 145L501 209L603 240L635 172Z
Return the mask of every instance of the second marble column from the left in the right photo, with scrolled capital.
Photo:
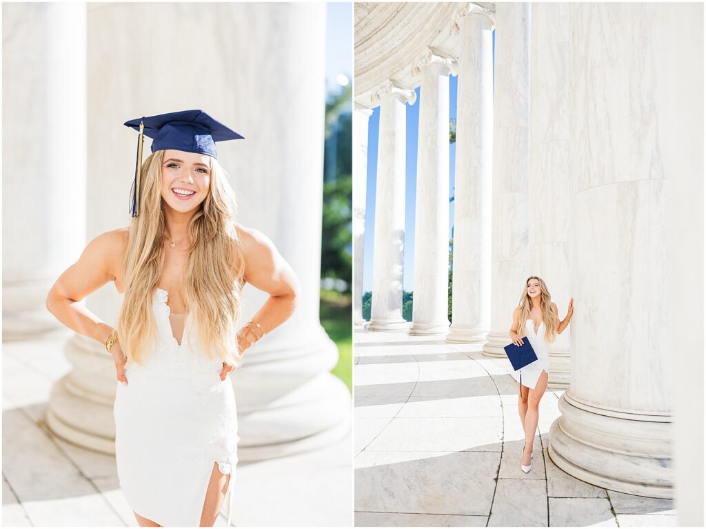
M373 299L368 331L407 328L402 318L402 278L405 244L405 124L407 102L414 90L391 81L373 93L379 100L378 176L375 190Z

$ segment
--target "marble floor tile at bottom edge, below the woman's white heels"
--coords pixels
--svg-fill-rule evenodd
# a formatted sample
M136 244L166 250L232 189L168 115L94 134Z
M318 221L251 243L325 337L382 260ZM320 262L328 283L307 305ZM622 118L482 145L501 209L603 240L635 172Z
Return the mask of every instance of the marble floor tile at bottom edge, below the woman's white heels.
M544 480L498 480L489 527L546 526L547 516Z

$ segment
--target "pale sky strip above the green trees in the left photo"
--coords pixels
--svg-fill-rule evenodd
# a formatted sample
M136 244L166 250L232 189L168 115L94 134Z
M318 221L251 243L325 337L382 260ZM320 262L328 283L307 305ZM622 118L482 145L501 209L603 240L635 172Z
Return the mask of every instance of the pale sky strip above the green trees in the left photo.
M353 71L353 4L326 4L326 93L340 90L336 76L344 73L349 80Z

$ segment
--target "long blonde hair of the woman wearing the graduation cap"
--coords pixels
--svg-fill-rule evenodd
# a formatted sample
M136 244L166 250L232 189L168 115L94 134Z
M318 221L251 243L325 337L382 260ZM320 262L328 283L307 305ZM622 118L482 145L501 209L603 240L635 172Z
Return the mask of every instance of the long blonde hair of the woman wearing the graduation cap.
M164 150L157 150L142 165L140 215L132 219L123 263L126 288L117 329L128 365L140 364L157 336L152 302L164 263L163 159ZM208 358L215 353L237 367L242 359L237 323L245 266L235 228L234 191L215 158L209 159L210 192L187 228L191 246L184 265L184 301Z

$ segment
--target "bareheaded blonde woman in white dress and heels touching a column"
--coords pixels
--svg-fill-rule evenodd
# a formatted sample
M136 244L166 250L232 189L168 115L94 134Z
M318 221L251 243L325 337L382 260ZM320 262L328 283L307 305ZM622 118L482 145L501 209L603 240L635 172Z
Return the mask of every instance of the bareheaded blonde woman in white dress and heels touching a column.
M569 301L566 318L559 321L556 304L551 301L549 289L541 278L532 275L525 282L525 289L520 303L513 311L513 325L510 338L515 345L522 345L524 339L530 340L537 360L512 373L517 381L520 396L517 408L520 410L520 422L525 431L525 446L522 448L522 471L532 469L532 444L539 422L539 401L546 391L549 378L549 352L547 345L556 340L568 326L573 316L573 298ZM520 380L522 383L520 384Z

